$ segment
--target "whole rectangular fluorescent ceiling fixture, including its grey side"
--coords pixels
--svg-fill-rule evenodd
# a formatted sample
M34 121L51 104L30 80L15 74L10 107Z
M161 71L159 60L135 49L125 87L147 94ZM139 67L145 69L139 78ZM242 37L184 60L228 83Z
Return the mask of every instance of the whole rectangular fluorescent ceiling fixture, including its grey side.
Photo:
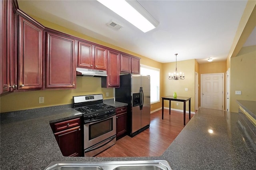
M156 28L159 23L137 2L125 0L97 0L142 32L148 32ZM134 7L132 7L132 6ZM136 8L136 9L135 9ZM143 14L143 16L142 16ZM150 21L149 21L150 20Z

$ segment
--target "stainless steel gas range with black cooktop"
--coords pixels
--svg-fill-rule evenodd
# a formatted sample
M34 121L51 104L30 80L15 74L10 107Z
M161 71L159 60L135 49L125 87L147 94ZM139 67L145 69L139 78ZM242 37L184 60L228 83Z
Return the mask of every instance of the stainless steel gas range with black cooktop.
M103 95L73 97L73 108L83 114L84 156L95 156L116 143L116 108Z

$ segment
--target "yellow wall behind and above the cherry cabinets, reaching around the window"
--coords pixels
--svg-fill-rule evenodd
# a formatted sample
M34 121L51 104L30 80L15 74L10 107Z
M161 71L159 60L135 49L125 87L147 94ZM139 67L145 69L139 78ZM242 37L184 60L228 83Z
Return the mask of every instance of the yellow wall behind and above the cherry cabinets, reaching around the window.
M116 47L106 42L91 38L84 34L80 34L73 30L64 28L62 26L53 24L51 22L42 20L40 18L33 17L36 21L40 22L45 27L52 28L54 30L70 34L88 40L90 42L95 42L112 49L117 49L119 51L129 53L131 55L140 57L140 63L148 65L151 67L156 67L160 69L160 74L162 71L162 63L138 55L126 49ZM160 90L162 88L162 78L160 77ZM114 97L114 88L101 88L101 78L100 77L76 77L76 89L63 89L63 90L40 90L40 91L27 91L27 92L15 92L8 95L0 97L0 113L9 112L9 111L18 111L26 109L34 109L40 107L48 107L55 105L66 105L72 103L72 97L76 95L91 95L91 94L103 94L103 99L111 99ZM109 93L109 96L106 97L106 93ZM160 92L161 94L161 92ZM44 103L38 103L38 97L44 97ZM15 105L14 105L15 103ZM151 111L160 108L160 102L152 105Z

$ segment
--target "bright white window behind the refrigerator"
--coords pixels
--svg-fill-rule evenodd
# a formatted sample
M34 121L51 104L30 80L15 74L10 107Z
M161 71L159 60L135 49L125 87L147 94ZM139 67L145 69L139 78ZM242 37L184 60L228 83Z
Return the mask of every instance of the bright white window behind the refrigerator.
M150 75L150 104L160 102L160 69L140 65L141 75Z

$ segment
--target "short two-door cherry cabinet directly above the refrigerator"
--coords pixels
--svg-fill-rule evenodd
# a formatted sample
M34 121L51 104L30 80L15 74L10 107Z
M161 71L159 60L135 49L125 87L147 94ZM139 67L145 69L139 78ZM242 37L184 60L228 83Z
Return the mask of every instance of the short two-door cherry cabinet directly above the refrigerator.
M126 54L121 54L120 58L120 72L140 74L140 58Z

